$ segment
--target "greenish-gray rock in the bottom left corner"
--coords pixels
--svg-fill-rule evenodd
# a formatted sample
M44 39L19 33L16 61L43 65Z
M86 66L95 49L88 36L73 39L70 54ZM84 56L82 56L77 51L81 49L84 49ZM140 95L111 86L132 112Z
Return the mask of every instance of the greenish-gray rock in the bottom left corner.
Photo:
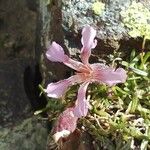
M31 116L11 128L0 128L0 149L44 150L47 136L46 122Z

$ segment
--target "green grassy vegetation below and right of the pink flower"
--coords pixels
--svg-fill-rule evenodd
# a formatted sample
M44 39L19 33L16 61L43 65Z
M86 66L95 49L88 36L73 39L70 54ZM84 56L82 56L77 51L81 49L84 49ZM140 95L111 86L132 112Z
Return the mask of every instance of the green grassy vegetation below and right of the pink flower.
M101 146L108 150L146 150L150 148L150 52L137 54L133 50L127 61L119 56L120 53L114 53L109 60L113 66L126 68L126 83L112 88L91 84L88 89L91 109L79 124L93 136L97 149ZM74 103L77 86L71 87L61 100L48 101L42 111L50 112L51 121Z

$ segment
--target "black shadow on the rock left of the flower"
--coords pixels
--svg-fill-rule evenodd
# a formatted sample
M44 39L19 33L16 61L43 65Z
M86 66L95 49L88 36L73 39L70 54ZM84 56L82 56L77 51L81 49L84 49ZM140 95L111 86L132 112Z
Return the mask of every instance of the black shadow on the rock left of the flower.
M42 76L39 70L39 65L34 68L28 66L24 71L24 89L31 103L33 111L46 107L47 101L45 96L40 96L39 84L42 82Z

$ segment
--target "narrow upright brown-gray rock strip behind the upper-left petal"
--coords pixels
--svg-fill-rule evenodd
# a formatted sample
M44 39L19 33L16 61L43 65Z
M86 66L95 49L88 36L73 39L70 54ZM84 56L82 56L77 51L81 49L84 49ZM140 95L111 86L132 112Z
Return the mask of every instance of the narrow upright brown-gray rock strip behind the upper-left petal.
M52 41L56 41L67 51L63 38L61 1L39 0L37 34L36 59L39 61L43 84L46 86L49 82L67 77L67 67L50 62L45 57L47 46Z

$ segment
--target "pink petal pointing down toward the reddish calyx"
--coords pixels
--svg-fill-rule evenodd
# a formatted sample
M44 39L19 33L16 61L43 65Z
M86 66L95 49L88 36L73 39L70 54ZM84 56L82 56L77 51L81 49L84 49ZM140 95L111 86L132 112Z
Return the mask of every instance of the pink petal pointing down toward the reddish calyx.
M78 96L76 101L76 106L74 107L74 114L78 118L81 118L82 116L86 116L88 113L89 108L89 102L86 99L86 90L89 85L89 82L83 83L79 90L78 90Z

